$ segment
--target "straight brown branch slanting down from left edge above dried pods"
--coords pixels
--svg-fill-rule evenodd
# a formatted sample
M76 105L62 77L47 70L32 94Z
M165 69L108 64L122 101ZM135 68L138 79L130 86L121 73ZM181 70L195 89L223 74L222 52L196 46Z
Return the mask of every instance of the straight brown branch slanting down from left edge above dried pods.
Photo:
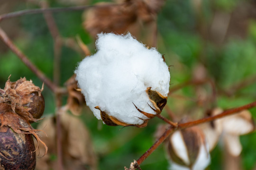
M53 92L58 91L57 87L53 82L48 79L43 72L41 72L28 58L23 54L9 39L7 34L0 28L0 38L9 47L9 49L14 52L19 59L33 72L37 77L43 81Z

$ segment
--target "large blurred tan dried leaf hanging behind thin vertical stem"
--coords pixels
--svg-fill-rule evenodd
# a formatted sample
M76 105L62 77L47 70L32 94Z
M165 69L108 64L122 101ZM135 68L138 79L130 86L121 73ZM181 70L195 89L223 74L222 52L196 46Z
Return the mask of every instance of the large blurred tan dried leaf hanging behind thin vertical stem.
M62 127L62 152L65 170L96 170L97 159L93 151L89 131L80 119L66 112L60 114ZM51 160L56 155L55 117L44 119L38 128L47 134L46 144L49 152L45 157L37 159L37 170L56 169L57 163ZM41 146L39 146L41 148ZM40 149L39 149L40 150Z

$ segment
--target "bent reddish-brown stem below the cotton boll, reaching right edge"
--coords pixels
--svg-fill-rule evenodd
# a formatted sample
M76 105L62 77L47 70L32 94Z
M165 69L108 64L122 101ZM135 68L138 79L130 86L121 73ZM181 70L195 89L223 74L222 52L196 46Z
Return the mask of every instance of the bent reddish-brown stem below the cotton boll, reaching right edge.
M247 109L251 109L253 107L256 106L256 101L255 102L251 102L249 104L240 106L238 108L234 108L234 109L229 109L229 110L225 110L222 113L216 115L216 116L210 116L210 117L206 117L206 118L202 118L202 119L198 119L195 121L190 121L190 122L186 122L186 123L181 123L178 124L177 127L174 126L169 126L166 130L165 133L155 142L155 144L153 144L147 151L146 153L144 153L138 160L137 163L138 165L140 165L143 161L146 160L146 158L155 151L155 149L162 144L165 139L175 130L179 130L179 129L184 129L184 128L188 128L188 127L192 127L192 126L196 126L199 125L201 123L206 123L206 122L210 122L213 121L215 119L219 119L219 118L223 118L225 116L229 116L235 113L238 113L239 111L242 110L247 110Z

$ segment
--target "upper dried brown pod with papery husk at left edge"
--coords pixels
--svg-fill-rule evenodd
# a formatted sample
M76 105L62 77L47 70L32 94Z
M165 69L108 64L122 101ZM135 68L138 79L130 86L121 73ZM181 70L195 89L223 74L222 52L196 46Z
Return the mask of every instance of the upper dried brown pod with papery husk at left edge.
M10 103L13 111L31 123L37 121L45 110L41 91L25 77L16 82L11 82L8 78L4 89L0 91L0 102Z

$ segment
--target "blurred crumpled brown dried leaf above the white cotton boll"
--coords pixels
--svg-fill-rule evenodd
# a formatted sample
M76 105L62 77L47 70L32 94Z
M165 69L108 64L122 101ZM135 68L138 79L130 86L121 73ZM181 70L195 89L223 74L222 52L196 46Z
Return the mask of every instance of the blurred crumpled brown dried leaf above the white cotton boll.
M97 34L131 32L136 34L142 23L155 21L165 0L121 0L119 3L100 2L84 12L84 28Z

